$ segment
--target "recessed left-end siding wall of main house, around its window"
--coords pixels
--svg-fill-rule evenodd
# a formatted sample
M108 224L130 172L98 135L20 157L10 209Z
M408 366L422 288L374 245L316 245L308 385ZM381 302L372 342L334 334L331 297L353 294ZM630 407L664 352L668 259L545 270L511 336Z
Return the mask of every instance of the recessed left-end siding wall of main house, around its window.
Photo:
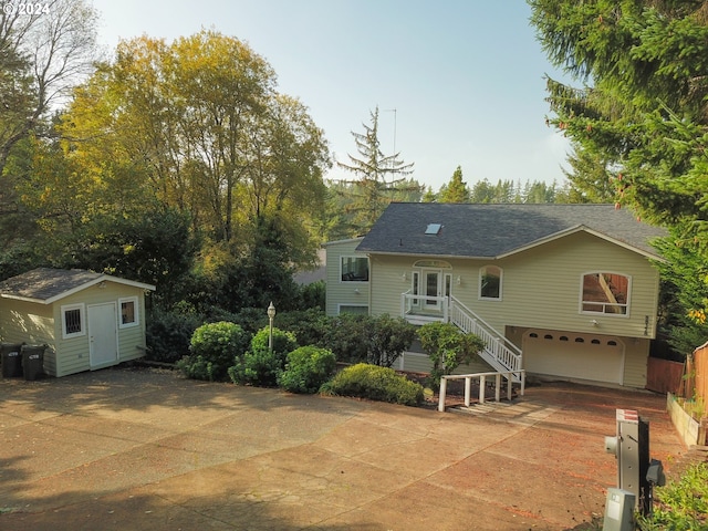
M342 281L341 258L362 257L366 253L356 252L362 238L332 241L325 244L326 250L326 314L339 315L341 306L365 306L371 311L369 285L372 264L369 261L369 282Z

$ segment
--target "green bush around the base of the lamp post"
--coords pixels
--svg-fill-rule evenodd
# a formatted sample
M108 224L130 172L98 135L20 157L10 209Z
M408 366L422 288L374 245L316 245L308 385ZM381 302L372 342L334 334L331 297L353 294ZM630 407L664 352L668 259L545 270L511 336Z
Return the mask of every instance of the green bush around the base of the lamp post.
M283 371L288 354L298 347L295 335L280 329L273 329L273 348L268 346L270 327L261 329L251 339L251 345L242 355L237 356L228 368L235 384L251 384L263 387L278 385L278 376Z

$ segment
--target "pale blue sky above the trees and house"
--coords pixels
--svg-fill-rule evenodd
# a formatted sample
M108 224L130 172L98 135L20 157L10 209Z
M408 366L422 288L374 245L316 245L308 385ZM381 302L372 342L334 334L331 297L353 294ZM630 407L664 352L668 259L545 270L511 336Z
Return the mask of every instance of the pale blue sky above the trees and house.
M205 29L247 42L304 103L334 157L356 156L379 108L379 139L435 191L455 168L561 184L568 142L545 126L543 76L559 77L524 0L93 0L100 41L171 41ZM395 110L395 112L393 111ZM327 178L351 178L336 165Z

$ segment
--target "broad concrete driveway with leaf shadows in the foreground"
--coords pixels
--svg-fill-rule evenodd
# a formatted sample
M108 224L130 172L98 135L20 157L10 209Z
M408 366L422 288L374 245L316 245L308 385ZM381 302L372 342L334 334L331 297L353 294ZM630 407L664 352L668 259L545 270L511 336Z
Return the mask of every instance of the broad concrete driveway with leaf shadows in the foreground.
M616 408L670 478L686 448L648 393L543 384L460 414L155 369L0 379L0 529L585 529Z

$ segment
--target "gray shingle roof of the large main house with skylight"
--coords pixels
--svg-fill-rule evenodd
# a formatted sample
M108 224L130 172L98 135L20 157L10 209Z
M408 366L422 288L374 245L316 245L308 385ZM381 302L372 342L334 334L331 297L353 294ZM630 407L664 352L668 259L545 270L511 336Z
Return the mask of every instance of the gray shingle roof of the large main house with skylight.
M437 235L426 235L441 223ZM393 202L358 251L497 258L574 229L585 228L658 258L649 244L667 236L614 205L469 205Z

